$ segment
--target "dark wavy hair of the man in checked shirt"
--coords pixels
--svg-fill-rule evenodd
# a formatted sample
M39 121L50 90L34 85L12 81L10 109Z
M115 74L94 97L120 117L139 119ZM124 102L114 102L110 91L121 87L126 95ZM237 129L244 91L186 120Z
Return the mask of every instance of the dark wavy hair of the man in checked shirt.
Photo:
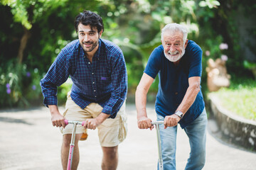
M75 17L75 30L78 32L78 25L79 23L82 23L82 25L90 26L90 28L97 28L98 33L100 31L104 31L104 25L102 22L102 18L92 11L83 11L82 13L79 13L78 16Z

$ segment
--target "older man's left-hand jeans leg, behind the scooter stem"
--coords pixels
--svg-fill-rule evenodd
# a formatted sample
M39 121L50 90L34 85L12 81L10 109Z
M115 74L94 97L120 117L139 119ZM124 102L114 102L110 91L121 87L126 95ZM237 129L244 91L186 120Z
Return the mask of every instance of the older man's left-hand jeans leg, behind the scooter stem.
M157 115L157 120L164 120L164 117ZM159 125L159 130L164 170L174 170L176 169L177 126L164 129L164 125Z

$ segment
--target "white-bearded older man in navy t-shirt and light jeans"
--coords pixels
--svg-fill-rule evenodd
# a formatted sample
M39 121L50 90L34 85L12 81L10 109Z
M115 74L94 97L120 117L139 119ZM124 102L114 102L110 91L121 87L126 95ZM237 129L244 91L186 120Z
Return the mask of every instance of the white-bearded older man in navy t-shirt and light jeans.
M178 123L188 135L191 154L186 169L203 169L206 160L207 116L201 92L202 50L187 40L183 26L170 23L161 32L162 45L156 47L137 86L138 127L153 128L146 115L146 94L159 74L156 95L164 169L176 169L176 133Z

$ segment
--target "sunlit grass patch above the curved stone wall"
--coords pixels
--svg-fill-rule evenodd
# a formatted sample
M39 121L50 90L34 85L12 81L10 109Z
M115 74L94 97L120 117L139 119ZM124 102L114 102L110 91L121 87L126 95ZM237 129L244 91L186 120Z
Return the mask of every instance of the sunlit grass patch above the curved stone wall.
M250 120L256 120L256 81L236 79L229 88L212 92L220 99L221 105L229 111Z

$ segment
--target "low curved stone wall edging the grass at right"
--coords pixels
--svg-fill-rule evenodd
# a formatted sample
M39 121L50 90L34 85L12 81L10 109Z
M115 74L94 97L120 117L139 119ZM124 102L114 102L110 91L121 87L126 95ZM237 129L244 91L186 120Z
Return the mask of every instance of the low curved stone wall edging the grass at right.
M213 94L209 98L211 113L222 135L235 145L256 151L256 122L226 110L220 106L220 101Z

